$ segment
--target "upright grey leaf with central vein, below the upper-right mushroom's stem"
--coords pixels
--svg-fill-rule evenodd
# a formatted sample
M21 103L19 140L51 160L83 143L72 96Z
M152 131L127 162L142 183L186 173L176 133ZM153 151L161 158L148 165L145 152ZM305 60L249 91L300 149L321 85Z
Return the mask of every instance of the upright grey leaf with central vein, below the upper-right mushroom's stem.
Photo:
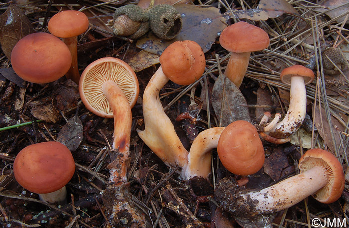
M220 75L213 86L212 91L212 106L218 120L222 114L221 126L226 127L231 122L236 120L246 120L250 122L250 113L248 111L245 97L242 95L239 88L236 87L228 78L225 80L224 75ZM224 100L223 100L223 87L224 87ZM221 111L223 103L223 111Z

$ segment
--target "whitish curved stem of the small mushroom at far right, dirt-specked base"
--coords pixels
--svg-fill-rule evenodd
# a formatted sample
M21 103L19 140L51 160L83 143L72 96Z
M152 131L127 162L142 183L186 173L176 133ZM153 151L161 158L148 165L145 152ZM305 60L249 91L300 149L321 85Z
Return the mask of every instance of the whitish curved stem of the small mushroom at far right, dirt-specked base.
M305 118L307 94L302 76L292 76L290 105L284 119L277 123L266 134L275 138L287 137L298 130Z

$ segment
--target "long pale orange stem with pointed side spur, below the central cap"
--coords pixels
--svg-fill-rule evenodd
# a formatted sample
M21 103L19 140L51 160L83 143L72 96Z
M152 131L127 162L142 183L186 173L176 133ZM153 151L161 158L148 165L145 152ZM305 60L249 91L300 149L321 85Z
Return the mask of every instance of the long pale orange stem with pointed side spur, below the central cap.
M143 116L145 129L137 130L145 144L168 166L184 168L188 151L184 148L174 126L165 114L160 102L159 91L168 82L161 66L150 79L143 94Z

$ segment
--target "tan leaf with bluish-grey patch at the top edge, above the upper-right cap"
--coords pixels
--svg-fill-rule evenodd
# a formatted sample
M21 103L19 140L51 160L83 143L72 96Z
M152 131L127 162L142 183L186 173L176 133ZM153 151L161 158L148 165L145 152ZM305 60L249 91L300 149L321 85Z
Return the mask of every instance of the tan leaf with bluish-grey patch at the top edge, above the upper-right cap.
M233 10L236 18L250 20L267 20L284 13L299 16L296 9L285 0L261 0L256 9Z

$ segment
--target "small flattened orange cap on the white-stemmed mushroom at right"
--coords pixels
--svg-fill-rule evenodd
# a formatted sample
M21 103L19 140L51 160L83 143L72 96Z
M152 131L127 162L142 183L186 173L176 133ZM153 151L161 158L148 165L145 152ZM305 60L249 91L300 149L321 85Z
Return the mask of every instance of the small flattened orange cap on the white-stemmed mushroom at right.
M291 85L291 77L295 75L303 76L305 85L311 83L315 77L311 69L301 65L293 65L281 71L280 79L283 83Z

